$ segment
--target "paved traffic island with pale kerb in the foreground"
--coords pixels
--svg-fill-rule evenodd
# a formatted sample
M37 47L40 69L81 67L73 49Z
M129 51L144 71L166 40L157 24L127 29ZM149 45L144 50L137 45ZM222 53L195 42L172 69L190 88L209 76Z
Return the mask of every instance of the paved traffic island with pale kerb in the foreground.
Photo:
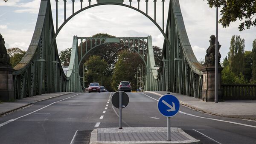
M120 130L118 127L112 127L112 128L98 128L94 129L91 133L90 137L90 143L89 144L199 144L200 140L197 140L193 138L192 136L189 136L187 133L185 133L183 130L177 127L172 127L171 128L171 135L174 135L175 133L180 133L179 136L181 137L176 137L176 140L173 141L166 141L165 139L160 138L157 140L157 135L152 135L154 137L153 139L148 141L143 141L146 140L145 137L143 136L143 133L167 133L166 127L123 127L122 130ZM122 133L122 134L120 134ZM125 134L126 133L126 134ZM134 138L134 136L140 136L140 141L132 141L130 138L126 137L123 140L119 140L114 138L115 136L113 135L120 135L125 136L129 135L129 133L133 133L131 137ZM103 134L104 136L102 137L98 134ZM106 134L106 135L105 135ZM158 135L159 135L158 134ZM108 138L107 138L108 137ZM147 137L147 136L146 136ZM183 138L182 138L183 137ZM103 138L103 140L102 140ZM127 140L128 138L128 140ZM167 138L167 137L166 137ZM175 138L175 137L173 137ZM186 139L184 139L186 138ZM113 140L114 139L114 140ZM126 140L125 140L126 139Z

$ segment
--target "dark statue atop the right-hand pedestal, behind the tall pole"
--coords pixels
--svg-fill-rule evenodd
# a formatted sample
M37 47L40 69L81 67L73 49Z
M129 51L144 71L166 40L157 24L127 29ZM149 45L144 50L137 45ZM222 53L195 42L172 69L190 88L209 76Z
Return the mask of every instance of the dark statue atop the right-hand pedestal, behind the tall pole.
M204 65L215 65L215 41L216 41L215 35L211 35L210 39L211 39L209 40L210 46L206 51ZM219 52L220 48L221 48L221 45L218 42L218 64L220 63L220 60L221 60L221 54Z

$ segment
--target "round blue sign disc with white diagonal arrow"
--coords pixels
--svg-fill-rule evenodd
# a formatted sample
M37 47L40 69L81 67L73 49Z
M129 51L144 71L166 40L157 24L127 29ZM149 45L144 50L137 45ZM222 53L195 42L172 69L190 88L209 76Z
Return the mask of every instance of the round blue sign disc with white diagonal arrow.
M166 94L158 100L157 108L163 116L172 117L180 110L180 102L175 96Z

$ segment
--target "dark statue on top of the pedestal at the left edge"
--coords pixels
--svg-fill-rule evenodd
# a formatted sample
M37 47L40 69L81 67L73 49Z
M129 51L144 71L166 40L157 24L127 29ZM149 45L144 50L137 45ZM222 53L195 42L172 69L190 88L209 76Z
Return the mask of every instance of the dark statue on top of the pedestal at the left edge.
M10 56L4 46L3 36L0 34L0 65L10 65Z

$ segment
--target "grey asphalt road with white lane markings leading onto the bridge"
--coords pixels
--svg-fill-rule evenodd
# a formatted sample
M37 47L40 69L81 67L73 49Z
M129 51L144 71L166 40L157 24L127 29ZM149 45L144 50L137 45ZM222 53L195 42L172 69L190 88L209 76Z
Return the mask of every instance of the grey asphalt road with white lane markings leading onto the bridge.
M72 93L2 116L0 144L87 144L93 129L119 126L112 94ZM123 127L166 127L167 118L157 110L159 96L128 96ZM180 127L203 144L256 144L256 121L212 116L183 106L171 118L171 127Z

